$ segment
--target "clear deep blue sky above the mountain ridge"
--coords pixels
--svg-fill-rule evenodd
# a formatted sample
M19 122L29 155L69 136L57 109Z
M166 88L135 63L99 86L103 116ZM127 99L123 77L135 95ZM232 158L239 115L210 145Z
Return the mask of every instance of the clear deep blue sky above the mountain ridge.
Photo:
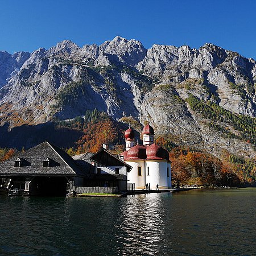
M254 0L0 0L0 10L0 50L10 53L119 35L146 48L213 43L256 59Z

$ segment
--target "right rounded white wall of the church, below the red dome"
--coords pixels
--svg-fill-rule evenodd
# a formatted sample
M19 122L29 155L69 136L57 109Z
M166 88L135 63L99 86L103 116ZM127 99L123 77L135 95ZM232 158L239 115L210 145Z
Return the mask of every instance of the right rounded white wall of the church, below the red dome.
M147 168L149 167L149 175ZM164 160L147 160L146 161L146 183L150 183L151 189L168 189L167 179L167 161Z

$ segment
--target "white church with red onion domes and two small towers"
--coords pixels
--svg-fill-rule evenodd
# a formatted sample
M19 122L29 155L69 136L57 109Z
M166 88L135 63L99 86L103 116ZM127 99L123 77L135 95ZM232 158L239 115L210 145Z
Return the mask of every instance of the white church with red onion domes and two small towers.
M147 124L143 131L143 145L134 143L134 131L125 131L126 151L120 156L131 167L127 173L127 183L135 184L135 189L145 189L150 184L151 189L171 188L171 162L169 153L154 142L154 129Z

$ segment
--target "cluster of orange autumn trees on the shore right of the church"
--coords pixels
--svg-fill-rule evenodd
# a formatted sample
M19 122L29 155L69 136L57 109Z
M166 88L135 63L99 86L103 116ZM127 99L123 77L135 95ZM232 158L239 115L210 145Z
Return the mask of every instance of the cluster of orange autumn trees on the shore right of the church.
M172 161L172 184L197 186L238 186L242 176L237 166L221 161L211 154L191 152L174 148L170 152Z

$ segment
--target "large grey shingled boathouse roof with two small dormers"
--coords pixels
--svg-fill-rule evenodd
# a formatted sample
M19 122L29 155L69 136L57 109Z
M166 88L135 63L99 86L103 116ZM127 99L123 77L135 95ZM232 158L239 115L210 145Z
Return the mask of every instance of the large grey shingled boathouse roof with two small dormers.
M14 167L16 159L22 159L20 167ZM43 162L49 159L49 167L43 167ZM84 172L76 165L64 150L43 142L24 152L0 163L0 176L29 175L29 176L84 176Z

